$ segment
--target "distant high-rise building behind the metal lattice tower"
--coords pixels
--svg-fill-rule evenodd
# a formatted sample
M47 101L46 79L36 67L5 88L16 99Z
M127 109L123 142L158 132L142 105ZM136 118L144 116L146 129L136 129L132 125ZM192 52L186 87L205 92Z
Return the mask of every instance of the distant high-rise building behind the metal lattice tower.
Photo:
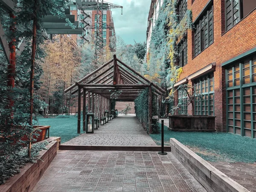
M95 4L96 0L80 0L70 4L70 15L75 15L76 21L79 22L79 27L83 28L83 34L81 35L71 35L74 41L78 45L83 45L84 42L94 41L93 34L96 31L96 14L97 11L93 9L85 9L81 11L79 6L84 6L87 4ZM103 44L105 46L110 45L111 36L115 35L114 22L111 10L103 10ZM93 27L94 26L94 27ZM105 26L111 26L111 29L104 29Z

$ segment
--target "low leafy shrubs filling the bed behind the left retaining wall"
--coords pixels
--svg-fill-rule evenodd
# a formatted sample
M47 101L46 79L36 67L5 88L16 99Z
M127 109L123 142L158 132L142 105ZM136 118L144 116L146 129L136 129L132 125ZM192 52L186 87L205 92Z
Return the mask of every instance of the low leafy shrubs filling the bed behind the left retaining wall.
M14 174L20 172L20 168L28 162L35 163L38 160L39 151L47 149L47 141L43 143L35 143L31 148L31 157L28 157L28 150L23 149L18 153L0 156L0 185Z

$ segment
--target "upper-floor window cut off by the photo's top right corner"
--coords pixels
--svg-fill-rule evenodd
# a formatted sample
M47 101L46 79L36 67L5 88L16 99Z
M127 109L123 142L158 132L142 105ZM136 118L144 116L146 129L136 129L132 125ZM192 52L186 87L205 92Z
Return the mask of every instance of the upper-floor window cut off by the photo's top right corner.
M256 0L225 0L226 31L256 8Z

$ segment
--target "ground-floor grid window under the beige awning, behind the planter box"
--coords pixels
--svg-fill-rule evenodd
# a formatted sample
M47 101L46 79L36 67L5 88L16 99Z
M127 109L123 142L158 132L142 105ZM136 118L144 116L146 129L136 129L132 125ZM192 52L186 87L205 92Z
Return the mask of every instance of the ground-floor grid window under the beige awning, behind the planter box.
M214 115L214 78L213 73L194 81L195 115Z

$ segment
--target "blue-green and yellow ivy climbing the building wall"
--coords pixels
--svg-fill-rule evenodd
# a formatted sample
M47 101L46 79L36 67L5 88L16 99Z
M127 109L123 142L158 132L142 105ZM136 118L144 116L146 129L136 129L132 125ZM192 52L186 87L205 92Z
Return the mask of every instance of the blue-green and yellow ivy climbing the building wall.
M160 79L155 82L165 88L173 87L183 72L182 67L176 66L177 44L193 26L191 10L186 11L180 22L178 16L177 0L163 0L151 33L147 73L152 79Z

